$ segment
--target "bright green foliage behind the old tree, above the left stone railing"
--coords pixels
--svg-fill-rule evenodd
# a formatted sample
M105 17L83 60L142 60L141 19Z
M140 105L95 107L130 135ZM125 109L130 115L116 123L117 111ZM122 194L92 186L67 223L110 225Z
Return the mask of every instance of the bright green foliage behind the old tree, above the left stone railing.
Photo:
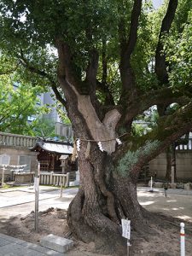
M36 119L48 112L38 98L44 88L26 83L15 71L13 59L2 54L0 61L0 131L34 135Z

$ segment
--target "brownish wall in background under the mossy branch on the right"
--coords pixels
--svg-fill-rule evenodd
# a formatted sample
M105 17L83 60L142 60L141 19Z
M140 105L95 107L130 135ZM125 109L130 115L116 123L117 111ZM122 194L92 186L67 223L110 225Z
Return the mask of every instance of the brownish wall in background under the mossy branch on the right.
M192 151L176 151L177 178L192 180ZM166 153L159 154L154 160L149 162L149 172L157 177L166 177Z

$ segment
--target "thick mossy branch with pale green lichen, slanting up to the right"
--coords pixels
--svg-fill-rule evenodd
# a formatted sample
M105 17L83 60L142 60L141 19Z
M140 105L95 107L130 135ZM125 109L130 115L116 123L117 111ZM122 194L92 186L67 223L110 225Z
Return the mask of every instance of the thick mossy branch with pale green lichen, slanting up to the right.
M191 128L192 102L183 108L179 108L172 115L162 117L158 126L147 135L136 139L130 137L130 140L127 140L127 143L119 148L114 160L119 165L119 157L125 159L128 163L129 176L133 182L137 182L141 168L182 137L183 134L191 131ZM132 159L136 160L136 163L133 162L131 165Z

